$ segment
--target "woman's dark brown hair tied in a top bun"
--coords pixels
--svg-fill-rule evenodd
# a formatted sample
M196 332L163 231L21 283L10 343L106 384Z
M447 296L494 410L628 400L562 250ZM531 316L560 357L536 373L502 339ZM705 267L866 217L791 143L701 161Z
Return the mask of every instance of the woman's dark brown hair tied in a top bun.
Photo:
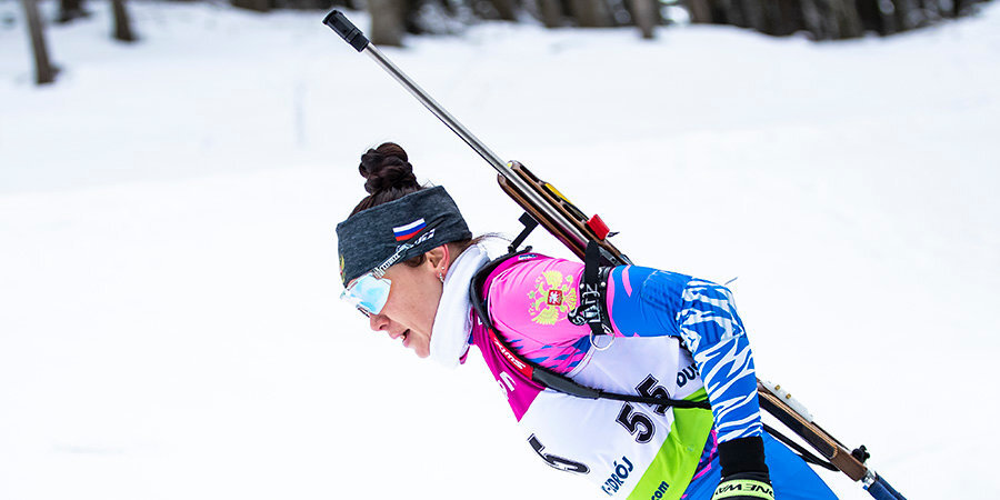
M368 191L368 196L354 207L351 216L426 189L417 182L417 176L413 174L413 166L410 164L407 152L396 142L383 142L378 148L369 149L368 152L361 154L358 171L366 179L364 190ZM452 241L449 244L458 247L459 253L461 253L484 238ZM421 253L407 260L406 263L416 268L423 263L423 259Z

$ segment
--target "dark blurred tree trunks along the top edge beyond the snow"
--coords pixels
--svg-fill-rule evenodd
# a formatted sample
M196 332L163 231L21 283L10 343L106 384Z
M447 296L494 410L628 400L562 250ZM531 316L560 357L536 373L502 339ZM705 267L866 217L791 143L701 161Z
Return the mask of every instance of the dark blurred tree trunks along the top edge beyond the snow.
M29 24L36 80L54 80L58 67L49 61L44 40L47 21L72 22L104 2L59 2L54 19L43 19L39 0L20 0ZM133 0L134 1L134 0ZM176 0L196 1L196 0ZM224 1L224 0L218 0ZM401 46L406 33L449 33L479 20L541 22L548 28L607 28L636 26L643 38L671 23L731 24L782 37L804 32L812 40L841 40L866 33L889 36L958 18L987 0L230 0L234 7L258 12L274 9L368 10L366 30L377 44ZM100 3L101 7L96 6ZM126 0L109 0L112 37L138 39L129 22Z

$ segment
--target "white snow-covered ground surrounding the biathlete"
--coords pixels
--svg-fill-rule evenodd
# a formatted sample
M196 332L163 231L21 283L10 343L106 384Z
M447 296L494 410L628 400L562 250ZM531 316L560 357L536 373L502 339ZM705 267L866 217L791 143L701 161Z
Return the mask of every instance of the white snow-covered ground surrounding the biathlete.
M383 140L473 231L517 230L471 150L322 12L129 2L123 46L88 6L49 28L63 71L39 89L0 1L0 499L594 497L534 457L478 354L447 372L337 300L333 226ZM503 23L408 44L386 52L633 260L738 276L760 374L908 498L1000 497L1000 6L824 44Z

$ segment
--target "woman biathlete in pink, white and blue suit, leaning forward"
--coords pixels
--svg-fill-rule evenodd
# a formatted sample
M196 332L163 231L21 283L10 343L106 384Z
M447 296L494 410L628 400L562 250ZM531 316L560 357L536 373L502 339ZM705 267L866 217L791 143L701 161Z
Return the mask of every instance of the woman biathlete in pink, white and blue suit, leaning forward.
M341 297L421 358L454 367L476 346L546 463L602 497L837 498L762 430L728 289L613 268L603 278L613 338L596 347L589 327L569 320L582 263L530 252L491 261L444 189L421 187L394 143L368 150L359 170L369 196L337 226ZM473 297L484 303L473 308ZM609 392L707 399L711 411L569 396L532 381L524 359Z

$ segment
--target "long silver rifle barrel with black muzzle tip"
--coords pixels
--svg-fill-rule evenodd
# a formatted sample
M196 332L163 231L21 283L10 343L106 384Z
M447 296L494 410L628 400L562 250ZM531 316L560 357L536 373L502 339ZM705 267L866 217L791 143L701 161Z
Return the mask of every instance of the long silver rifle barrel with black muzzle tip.
M461 124L454 117L451 116L438 101L433 100L420 86L417 84L413 80L410 79L406 73L403 73L396 64L392 63L384 54L370 41L364 37L364 33L361 32L357 27L354 27L348 18L340 12L339 10L333 10L323 19L323 24L330 27L333 31L337 32L343 40L350 43L358 52L364 52L369 57L371 57L377 64L382 67L389 74L392 76L397 81L399 81L413 97L417 98L420 103L422 103L430 112L434 113L441 122L443 122L449 129L451 129L458 137L460 137L463 141L466 141L469 147L471 147L483 160L487 161L493 169L497 170L500 176L503 176L508 181L512 182L528 199L532 202L534 207L538 207L544 216L550 218L551 220L559 220L560 217L553 210L548 202L546 202L541 196L539 196L533 189L531 189L528 183L522 180L519 176L514 173L514 171L500 157L497 156L490 148L488 148L482 141L479 140L474 134L472 134L469 129L467 129L463 124ZM587 236L583 234L578 228L572 226L566 226L562 228L564 232L571 236L574 240L577 240L577 244L581 247L587 246Z

